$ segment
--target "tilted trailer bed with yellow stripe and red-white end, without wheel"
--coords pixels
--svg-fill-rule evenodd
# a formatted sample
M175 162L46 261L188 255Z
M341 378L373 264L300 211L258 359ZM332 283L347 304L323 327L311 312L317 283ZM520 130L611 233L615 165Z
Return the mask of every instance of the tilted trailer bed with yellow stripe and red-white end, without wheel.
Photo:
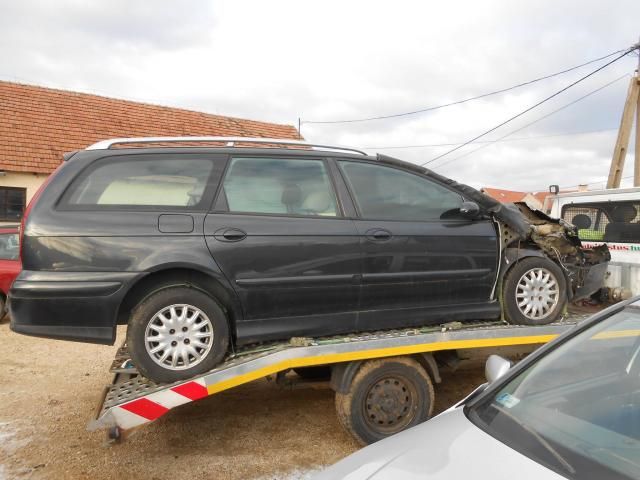
M105 388L90 430L117 432L151 422L169 410L258 378L292 368L442 350L546 343L586 316L571 316L544 326L454 322L327 338L296 338L239 351L203 375L173 384L156 384L139 375L121 348L114 360L113 383Z

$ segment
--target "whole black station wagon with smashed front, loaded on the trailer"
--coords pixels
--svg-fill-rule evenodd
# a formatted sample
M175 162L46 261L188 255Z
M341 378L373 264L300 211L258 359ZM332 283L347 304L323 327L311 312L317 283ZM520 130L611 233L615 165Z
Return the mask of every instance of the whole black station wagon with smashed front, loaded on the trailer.
M353 149L142 138L65 160L25 212L11 328L113 344L127 324L135 365L160 382L249 343L549 323L609 260L524 204Z

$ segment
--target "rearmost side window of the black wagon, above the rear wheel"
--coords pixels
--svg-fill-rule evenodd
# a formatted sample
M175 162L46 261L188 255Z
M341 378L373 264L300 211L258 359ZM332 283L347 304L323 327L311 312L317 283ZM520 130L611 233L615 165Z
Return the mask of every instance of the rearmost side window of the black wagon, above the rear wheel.
M101 161L71 185L63 204L78 207L206 208L213 161L124 157Z

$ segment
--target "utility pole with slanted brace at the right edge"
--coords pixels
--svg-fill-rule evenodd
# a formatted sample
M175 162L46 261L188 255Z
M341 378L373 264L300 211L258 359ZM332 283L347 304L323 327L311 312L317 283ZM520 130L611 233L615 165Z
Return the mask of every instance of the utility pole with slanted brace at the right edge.
M640 48L640 42L635 45L636 51ZM609 179L607 180L607 188L619 188L622 180L622 170L624 169L624 160L627 156L629 148L629 137L631 137L631 127L633 126L633 117L636 117L636 148L633 171L633 185L640 186L640 56L638 57L638 69L629 82L627 90L627 99L624 102L622 110L622 119L620 120L620 129L618 130L618 138L616 146L613 149L613 158L611 159L611 167L609 169Z

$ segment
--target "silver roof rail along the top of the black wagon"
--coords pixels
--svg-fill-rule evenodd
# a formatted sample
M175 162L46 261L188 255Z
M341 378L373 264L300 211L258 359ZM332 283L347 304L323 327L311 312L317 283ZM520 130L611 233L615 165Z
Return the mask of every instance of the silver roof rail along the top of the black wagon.
M355 152L361 155L368 155L362 150L351 147L341 147L337 145L325 145L322 143L309 143L301 140L287 140L282 138L255 138L255 137L138 137L138 138L112 138L102 140L88 146L85 150L106 150L113 145L124 143L183 143L183 142L224 142L227 147L233 147L235 143L275 143L278 145L295 145L299 147L316 147L325 150L342 150L345 152Z

